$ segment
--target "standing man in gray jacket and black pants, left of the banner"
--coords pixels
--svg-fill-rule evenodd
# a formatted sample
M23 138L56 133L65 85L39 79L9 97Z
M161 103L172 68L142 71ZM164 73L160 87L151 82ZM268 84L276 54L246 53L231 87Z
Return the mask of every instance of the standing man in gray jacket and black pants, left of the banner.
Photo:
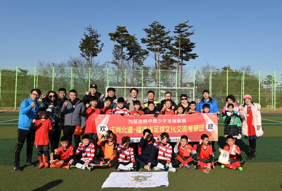
M84 103L78 99L78 93L75 89L69 91L69 100L65 101L61 112L65 114L64 117L64 128L63 135L69 138L69 144L72 144L73 134L75 133L76 127L81 126L85 128L86 118L82 117L82 112L85 109ZM77 151L80 143L80 136L74 135L75 138L75 150Z

